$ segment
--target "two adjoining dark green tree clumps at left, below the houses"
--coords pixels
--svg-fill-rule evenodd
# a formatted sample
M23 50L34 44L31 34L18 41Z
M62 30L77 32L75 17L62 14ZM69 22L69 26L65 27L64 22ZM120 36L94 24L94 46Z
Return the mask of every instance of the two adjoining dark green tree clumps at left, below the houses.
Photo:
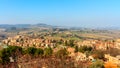
M34 47L29 47L25 49L19 46L8 46L8 48L4 48L3 50L0 51L1 63L2 64L9 63L10 57L12 57L16 61L18 57L24 54L29 54L32 56L43 55L43 49Z

